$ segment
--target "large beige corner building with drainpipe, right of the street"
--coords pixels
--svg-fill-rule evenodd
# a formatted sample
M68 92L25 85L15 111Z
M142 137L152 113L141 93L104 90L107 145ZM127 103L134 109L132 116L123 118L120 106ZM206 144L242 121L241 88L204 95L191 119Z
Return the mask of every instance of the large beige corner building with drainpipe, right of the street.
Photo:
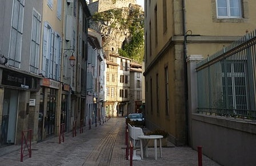
M190 139L187 56L207 57L256 27L255 1L223 2L145 1L146 126L177 146Z

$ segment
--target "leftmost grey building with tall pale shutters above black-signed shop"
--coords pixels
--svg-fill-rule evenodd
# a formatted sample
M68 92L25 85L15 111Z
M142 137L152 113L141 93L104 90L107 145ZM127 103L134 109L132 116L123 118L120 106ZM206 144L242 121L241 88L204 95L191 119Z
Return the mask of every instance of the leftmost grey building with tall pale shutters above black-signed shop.
M42 13L42 2L1 1L0 148L20 144L28 128L37 140Z

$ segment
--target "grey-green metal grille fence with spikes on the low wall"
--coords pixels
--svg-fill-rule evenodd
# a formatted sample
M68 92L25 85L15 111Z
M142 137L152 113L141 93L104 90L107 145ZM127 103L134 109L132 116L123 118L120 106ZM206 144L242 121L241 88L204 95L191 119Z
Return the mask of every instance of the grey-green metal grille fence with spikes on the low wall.
M256 30L197 64L198 111L256 119Z

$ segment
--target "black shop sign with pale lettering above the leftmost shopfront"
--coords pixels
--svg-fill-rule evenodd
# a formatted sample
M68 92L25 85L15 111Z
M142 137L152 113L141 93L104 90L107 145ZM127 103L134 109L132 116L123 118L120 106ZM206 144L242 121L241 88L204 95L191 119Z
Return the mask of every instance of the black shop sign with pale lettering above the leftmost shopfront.
M14 72L11 70L3 69L2 72L2 85L14 86L22 89L38 90L39 78Z

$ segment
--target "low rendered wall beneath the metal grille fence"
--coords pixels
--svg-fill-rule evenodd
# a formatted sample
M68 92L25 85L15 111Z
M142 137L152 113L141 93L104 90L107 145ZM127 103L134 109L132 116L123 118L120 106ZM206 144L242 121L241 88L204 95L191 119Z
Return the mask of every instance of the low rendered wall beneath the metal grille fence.
M192 114L191 147L221 165L256 165L256 123L213 115Z

